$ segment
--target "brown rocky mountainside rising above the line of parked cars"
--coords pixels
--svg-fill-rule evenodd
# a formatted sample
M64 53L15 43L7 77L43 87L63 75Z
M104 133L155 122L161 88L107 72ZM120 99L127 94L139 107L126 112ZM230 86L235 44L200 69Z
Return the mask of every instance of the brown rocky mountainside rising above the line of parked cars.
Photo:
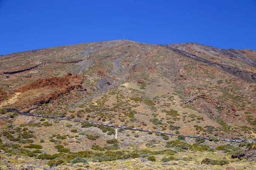
M0 108L255 139L255 51L110 43L0 56ZM90 57L85 57L87 45Z

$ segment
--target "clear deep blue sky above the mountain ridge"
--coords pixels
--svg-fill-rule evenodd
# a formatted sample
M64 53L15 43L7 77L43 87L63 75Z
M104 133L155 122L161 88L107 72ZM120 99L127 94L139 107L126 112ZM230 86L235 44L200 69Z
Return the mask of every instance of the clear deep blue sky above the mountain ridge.
M0 0L0 55L124 35L256 51L256 0Z

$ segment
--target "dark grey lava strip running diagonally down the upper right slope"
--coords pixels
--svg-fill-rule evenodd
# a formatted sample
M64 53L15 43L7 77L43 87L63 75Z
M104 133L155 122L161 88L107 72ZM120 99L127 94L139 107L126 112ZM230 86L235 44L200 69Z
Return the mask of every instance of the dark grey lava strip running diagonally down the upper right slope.
M196 56L195 54L190 54L186 51L177 49L177 48L173 48L170 45L164 45L166 48L174 51L177 54L183 55L185 57L189 57L191 59L194 59L195 61L198 62L204 62L207 65L213 66L215 68L221 69L229 74L232 74L233 76L248 81L248 82L256 82L256 74L249 72L249 71L245 71L245 70L241 70L239 68L235 68L233 66L229 66L229 65L224 65L224 64L220 64L220 63L216 63L216 62L212 62L209 61L207 59L203 59L201 57ZM254 62L252 62L254 63ZM255 62L256 63L256 62Z

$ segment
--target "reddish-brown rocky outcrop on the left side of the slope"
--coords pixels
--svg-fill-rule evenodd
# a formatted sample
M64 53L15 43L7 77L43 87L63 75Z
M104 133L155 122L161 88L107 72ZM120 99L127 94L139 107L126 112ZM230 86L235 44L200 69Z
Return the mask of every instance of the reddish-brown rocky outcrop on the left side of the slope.
M81 84L84 77L81 75L67 74L66 77L52 77L50 79L39 79L30 84L18 88L15 95L1 106L17 108L18 110L28 111L37 108L40 104L49 103L59 96L68 94L74 89L83 89ZM86 89L83 89L86 91Z

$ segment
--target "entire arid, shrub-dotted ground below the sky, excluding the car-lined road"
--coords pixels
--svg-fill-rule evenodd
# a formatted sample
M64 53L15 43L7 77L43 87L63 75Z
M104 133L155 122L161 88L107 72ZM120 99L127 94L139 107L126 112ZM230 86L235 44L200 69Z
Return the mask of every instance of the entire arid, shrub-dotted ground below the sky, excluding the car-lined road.
M255 51L129 40L110 46L0 56L0 169L256 169L256 144L218 140L256 140ZM115 140L111 127L6 109L212 140L122 128Z

